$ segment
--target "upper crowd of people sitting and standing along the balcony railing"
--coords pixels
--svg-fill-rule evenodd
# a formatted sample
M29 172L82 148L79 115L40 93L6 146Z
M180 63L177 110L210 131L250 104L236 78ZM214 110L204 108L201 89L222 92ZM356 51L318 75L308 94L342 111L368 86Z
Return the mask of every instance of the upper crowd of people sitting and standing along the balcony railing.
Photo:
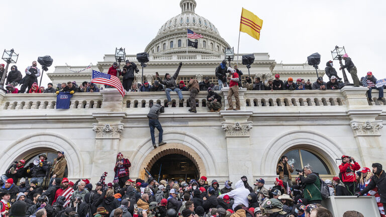
M358 79L357 69L352 62L351 58L345 54L343 55L343 59L345 64L339 68L347 69L351 74L351 77L354 81L354 86L364 86L368 88L367 97L369 101L373 101L371 97L371 90L376 89L379 91L379 95L377 100L386 103L383 98L383 86L377 86L377 79L372 75L372 72L367 72L366 76ZM198 85L189 85L189 81L185 82L183 80L178 81L178 74L181 69L182 62L179 63L176 72L171 76L169 73L166 73L163 79L160 77L158 72L156 72L156 80L154 80L153 84L148 81L143 81L143 83L138 83L135 81L135 73L138 73L139 69L134 62L126 60L126 65L123 69L118 68L118 63L114 62L113 65L109 68L108 74L112 76L122 76L122 84L125 91L128 92L156 92L156 91L164 91L166 93L166 98L168 100L168 105L171 104L170 92L176 92L178 94L179 102L183 102L184 98L182 96L181 91L189 91L190 96L189 99L194 99L193 96L197 95L199 91L208 91L212 90L221 90L223 87L229 86L230 94L228 94L228 102L232 102L232 95L234 95L236 99L236 108L234 110L238 110L239 106L237 103L238 100L238 89L246 88L247 90L326 90L326 89L341 89L344 86L344 82L342 78L338 76L336 69L333 67L333 61L328 61L326 63L325 72L328 76L328 81L324 81L323 77L318 77L317 81L311 82L309 79L306 81L303 78L296 78L294 80L293 77L288 77L286 80L280 80L280 75L275 74L274 79L265 79L262 80L260 77L255 77L254 81L249 76L246 76L244 80L242 80L243 72L238 69L238 66L235 65L233 68L227 66L227 62L223 60L219 66L215 69L215 76L217 78L218 84L209 81L209 77L205 77L205 79L201 82L197 81ZM0 74L4 72L4 64L0 64ZM40 76L40 69L37 68L36 61L32 62L31 66L28 66L25 70L25 76L22 78L22 73L18 70L16 65L11 67L11 71L6 73L6 92L7 93L54 93L57 91L64 92L99 92L100 88L94 83L84 81L81 85L75 81L69 81L67 83L57 84L56 87L53 86L52 83L47 84L47 88L38 86L37 77ZM21 84L20 90L17 88L18 85ZM105 85L102 88L110 88L111 86ZM197 91L197 93L196 93ZM194 103L193 103L194 104ZM230 110L233 110L233 104L230 104ZM216 111L214 109L214 111ZM196 109L194 105L191 105L191 111L195 113Z

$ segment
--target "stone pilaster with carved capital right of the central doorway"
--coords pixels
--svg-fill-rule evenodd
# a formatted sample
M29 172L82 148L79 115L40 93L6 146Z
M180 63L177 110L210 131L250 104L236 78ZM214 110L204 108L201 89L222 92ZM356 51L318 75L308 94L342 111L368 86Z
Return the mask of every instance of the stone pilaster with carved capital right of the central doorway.
M253 183L252 160L250 155L249 131L252 122L248 119L252 111L221 111L220 115L225 120L222 129L227 141L227 161L229 180L239 180L245 175L251 186Z

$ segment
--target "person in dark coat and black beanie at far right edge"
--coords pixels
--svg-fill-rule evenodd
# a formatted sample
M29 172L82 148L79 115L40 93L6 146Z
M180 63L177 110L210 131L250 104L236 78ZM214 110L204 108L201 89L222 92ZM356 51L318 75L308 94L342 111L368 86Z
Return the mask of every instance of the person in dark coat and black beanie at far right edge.
M383 203L383 207L386 207L386 173L382 170L382 165L380 163L373 163L371 166L372 173L374 173L374 175L371 177L367 186L355 195L363 195L372 190L374 187L378 187L380 202Z

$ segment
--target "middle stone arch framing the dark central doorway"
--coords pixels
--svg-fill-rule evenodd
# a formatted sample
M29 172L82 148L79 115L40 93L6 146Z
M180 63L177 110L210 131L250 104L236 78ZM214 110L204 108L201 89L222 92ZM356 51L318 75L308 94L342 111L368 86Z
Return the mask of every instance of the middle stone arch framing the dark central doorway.
M163 141L167 144L154 149L151 138L148 138L137 148L130 157L133 165L130 177L143 178L143 168L167 154L182 154L188 157L199 168L201 175L216 176L219 173L212 151L197 137L186 132L167 132L163 134Z

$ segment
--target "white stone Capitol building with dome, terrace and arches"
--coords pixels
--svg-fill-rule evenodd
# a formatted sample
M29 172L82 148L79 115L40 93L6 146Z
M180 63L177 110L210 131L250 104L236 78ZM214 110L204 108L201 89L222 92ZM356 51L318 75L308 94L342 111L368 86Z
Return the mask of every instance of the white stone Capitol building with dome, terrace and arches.
M182 62L177 82L190 78L201 81L208 76L217 84L215 68L231 46L213 23L196 14L194 0L182 0L179 6L181 13L163 23L145 47L150 61L144 80L153 83L156 71L163 77L166 72L174 73ZM197 49L186 48L187 28L204 36L198 39ZM247 75L247 68L241 65L242 55L235 55L231 64L238 60ZM268 53L254 56L252 77L269 79L278 73L282 80L291 76L315 81L312 66L276 63ZM126 55L126 59L140 68L136 55ZM91 70L107 73L114 61L114 54L106 54L82 72L73 71L86 66L56 66L48 76L54 85L67 81L81 84L90 80ZM136 79L141 81L141 72ZM188 113L186 100L183 107L165 108L159 121L167 144L156 149L146 115L149 104L166 101L164 92L131 92L122 97L111 88L100 93L75 93L68 110L55 109L56 94L1 92L1 172L4 174L15 160L23 158L28 164L41 153L52 161L56 151L63 150L68 178L88 178L91 183L99 181L104 171L109 173L107 181L113 180L118 152L131 161L131 179L145 178L144 168L158 177L161 168L161 178L167 179L205 175L223 185L246 175L250 185L258 178L270 185L277 177L276 164L282 155L295 168L310 164L322 178L331 178L339 173L336 159L342 155L354 157L361 166L371 168L374 162L386 165L386 106L368 102L366 90L352 86L325 91L240 89L241 111L225 111L228 89L223 88L218 91L223 98L219 113L208 112L207 92L201 91L197 114ZM183 92L183 96L187 99L189 93ZM174 92L171 97L178 100Z

